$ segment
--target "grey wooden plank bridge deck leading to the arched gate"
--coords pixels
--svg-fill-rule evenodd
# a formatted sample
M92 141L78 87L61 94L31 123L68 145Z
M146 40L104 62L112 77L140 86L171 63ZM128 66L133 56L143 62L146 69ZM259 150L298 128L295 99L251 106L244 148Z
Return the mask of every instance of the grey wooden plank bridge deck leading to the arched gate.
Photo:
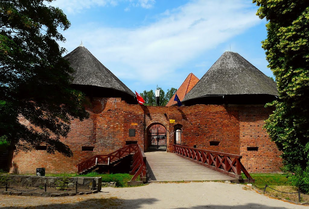
M145 155L148 182L234 179L231 176L184 159L175 153L156 151L145 152Z

